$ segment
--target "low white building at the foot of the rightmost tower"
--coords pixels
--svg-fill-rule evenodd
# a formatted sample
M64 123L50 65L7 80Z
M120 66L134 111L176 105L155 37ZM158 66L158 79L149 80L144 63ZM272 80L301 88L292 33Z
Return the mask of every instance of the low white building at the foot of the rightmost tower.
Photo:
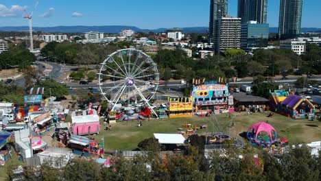
M299 56L305 53L306 43L303 40L281 40L280 49L291 49Z

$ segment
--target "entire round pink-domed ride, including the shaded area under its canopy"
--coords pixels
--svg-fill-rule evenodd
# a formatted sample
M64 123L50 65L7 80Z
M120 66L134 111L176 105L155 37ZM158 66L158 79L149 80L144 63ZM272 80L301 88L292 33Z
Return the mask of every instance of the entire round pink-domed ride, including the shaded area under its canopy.
M246 133L248 141L254 145L262 145L263 147L270 147L276 139L276 130L272 125L264 122L254 123Z

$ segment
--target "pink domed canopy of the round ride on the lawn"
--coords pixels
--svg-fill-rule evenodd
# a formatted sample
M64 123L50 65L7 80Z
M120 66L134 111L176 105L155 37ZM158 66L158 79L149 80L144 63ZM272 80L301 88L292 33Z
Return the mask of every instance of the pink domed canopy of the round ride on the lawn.
M252 137L252 136L249 136L249 134L250 134L250 132L252 132L253 129L254 129L254 132L255 132L254 140L257 143L259 143L259 141L257 141L257 135L260 132L267 132L269 134L269 136L270 136L270 141L274 142L274 140L272 138L272 131L274 131L275 139L276 139L276 130L273 128L272 125L270 125L268 123L259 122L259 123L255 123L254 125L252 125L250 128L248 128L248 133L247 133L248 138Z

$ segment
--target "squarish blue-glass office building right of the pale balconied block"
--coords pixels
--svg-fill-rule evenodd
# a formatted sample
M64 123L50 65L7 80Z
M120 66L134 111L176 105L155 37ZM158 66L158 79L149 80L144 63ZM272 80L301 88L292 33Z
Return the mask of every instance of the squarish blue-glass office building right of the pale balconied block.
M241 25L241 48L268 47L269 24L248 21Z

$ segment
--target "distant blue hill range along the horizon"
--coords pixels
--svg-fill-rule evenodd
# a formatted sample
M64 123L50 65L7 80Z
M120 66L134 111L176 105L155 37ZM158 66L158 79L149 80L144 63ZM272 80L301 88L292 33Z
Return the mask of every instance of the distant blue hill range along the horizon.
M28 31L29 27L0 27L0 32L21 32ZM84 33L84 32L104 32L110 34L117 34L121 29L133 29L135 32L165 32L166 28L158 29L140 29L134 26L123 25L108 25L108 26L56 26L56 27L33 27L35 31L41 32L65 32L65 33ZM206 33L209 27L183 27L186 33ZM321 28L318 27L302 27L302 32L318 32ZM270 27L270 33L278 33L278 27Z

